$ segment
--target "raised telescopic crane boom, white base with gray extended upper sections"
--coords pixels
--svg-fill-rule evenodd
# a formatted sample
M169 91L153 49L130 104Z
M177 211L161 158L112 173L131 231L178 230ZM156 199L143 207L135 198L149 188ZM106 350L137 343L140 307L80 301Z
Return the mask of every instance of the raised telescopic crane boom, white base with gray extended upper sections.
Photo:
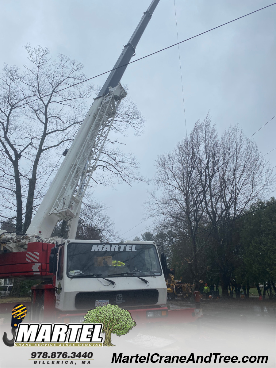
M49 238L56 223L65 219L71 220L70 238L75 238L82 198L112 127L116 108L126 96L121 77L158 3L159 0L151 2L124 46L33 217L28 235L41 234L42 238Z

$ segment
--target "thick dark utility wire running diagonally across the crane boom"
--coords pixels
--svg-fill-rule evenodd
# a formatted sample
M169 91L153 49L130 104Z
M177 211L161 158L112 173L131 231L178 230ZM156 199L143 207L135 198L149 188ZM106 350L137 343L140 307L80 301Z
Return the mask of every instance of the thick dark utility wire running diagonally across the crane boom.
M254 11L251 11L251 13L247 13L247 14L242 15L241 17L235 18L235 19L233 19L233 20L231 20L231 21L229 21L229 22L226 22L226 23L220 24L220 25L218 25L218 26L216 26L216 27L214 27L214 28L210 28L210 29L208 29L207 31L204 31L204 32L198 33L197 35L192 36L192 37L189 37L189 38L187 38L187 39L185 39L185 40L183 40L183 41L180 41L180 42L174 43L173 45L170 45L170 46L164 47L163 49L160 49L160 50L158 50L158 51L155 51L155 52L153 52L153 53L151 53L151 54L148 54L148 55L142 56L142 57L140 57L139 59L136 59L136 60L130 61L129 63L126 63L126 64L124 64L124 65L121 65L121 66L119 66L119 67L117 67L117 68L110 69L110 70L108 70L108 71L105 71L105 72L103 72L103 73L100 73L100 74L98 74L98 75L95 75L94 77L91 77L91 78L88 78L88 79L84 79L84 80L83 80L83 81L81 81L81 82L78 82L78 83L72 84L72 85L70 85L70 86L64 87L64 88L62 88L62 89L59 89L58 91L56 91L56 93L61 92L61 91L64 91L64 90L65 90L65 89L67 89L67 88L74 87L74 86L76 86L76 85L78 85L78 84L81 84L81 83L84 83L84 82L87 82L87 81L91 81L91 79L94 79L94 78L100 77L101 75L104 75L104 74L107 74L107 73L110 73L110 72L112 72L113 70L119 69L119 68L124 67L124 66L126 66L126 65L128 65L128 64L136 63L137 61L142 60L142 59L145 59L146 57L149 57L149 56L152 56L152 55L158 54L159 52L162 52L162 51L164 51L164 50L170 49L171 47L174 47L174 46L180 45L180 43L183 43L183 42L189 41L189 40L191 40L191 39L193 39L193 38L196 38L196 37L198 37L198 36L204 35L205 33L208 33L208 32L210 32L210 31L213 31L214 29L217 29L217 28L223 27L223 26L224 26L224 25L226 25L226 24L229 24L229 23L235 22L235 21L237 21L237 20L239 20L239 19L241 19L241 18L244 18L244 17L247 17L248 15L251 15L251 14L257 13L258 11L263 10L263 9L266 9L266 8L268 8L268 7L270 7L270 6L275 5L275 4L276 4L276 3L273 3L273 4L270 4L270 5L267 5L267 6L263 7L263 8L260 8L260 9L254 10ZM49 97L49 96L50 96L50 95L44 95L44 97ZM35 99L35 100L32 100L32 101L29 101L29 102L26 102L26 103L24 103L24 104L22 104L22 105L18 105L17 107L24 106L24 105L26 105L26 104L28 104L28 103L31 103L31 102L34 102L34 101L37 101L37 100L39 100L39 98L37 98L37 99Z

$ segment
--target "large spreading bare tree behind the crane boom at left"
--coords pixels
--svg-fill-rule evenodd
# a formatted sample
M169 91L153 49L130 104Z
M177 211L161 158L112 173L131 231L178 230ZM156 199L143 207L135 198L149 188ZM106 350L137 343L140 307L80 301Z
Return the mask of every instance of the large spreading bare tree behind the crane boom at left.
M25 49L24 72L5 65L0 78L0 211L3 220L16 220L18 232L28 229L47 189L45 182L81 125L88 110L86 100L96 92L85 82L82 64L63 54L52 59L47 47L26 45ZM112 130L125 135L132 127L138 135L144 121L128 98L121 103ZM116 144L123 143L109 138L95 183L144 180L135 157L122 153Z

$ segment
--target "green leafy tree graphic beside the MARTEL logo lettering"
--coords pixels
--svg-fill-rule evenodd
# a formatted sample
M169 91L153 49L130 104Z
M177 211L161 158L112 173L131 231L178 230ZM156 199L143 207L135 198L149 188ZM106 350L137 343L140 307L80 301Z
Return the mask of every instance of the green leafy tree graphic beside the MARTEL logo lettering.
M105 341L103 346L115 346L111 343L111 334L125 335L136 326L129 311L121 309L118 305L107 304L104 307L91 309L84 316L83 323L102 323Z

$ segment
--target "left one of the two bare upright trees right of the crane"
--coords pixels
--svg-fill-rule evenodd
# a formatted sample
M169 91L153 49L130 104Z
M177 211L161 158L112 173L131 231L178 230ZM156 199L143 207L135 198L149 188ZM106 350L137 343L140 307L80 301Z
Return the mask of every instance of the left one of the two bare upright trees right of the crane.
M205 124L206 121L209 121L208 117ZM156 190L151 192L148 202L151 215L158 218L163 231L171 230L176 234L174 243L184 249L183 261L188 264L195 280L195 289L205 272L205 266L198 261L202 244L198 244L196 233L206 221L208 175L214 175L213 147L217 146L215 128L208 126L203 130L202 125L204 123L196 123L190 136L178 143L173 152L159 156L153 181L163 194L158 197ZM189 236L187 240L178 241L186 236Z

